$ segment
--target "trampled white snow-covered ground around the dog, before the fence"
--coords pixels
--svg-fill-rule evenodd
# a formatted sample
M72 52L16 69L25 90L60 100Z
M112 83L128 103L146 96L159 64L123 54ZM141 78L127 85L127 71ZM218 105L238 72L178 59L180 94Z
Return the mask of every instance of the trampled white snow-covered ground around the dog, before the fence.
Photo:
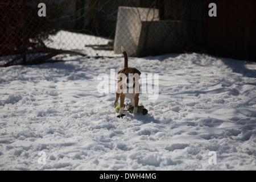
M0 68L0 169L256 170L255 63L183 53L129 65L159 74L159 96L141 94L148 114L122 119L97 90L122 57Z

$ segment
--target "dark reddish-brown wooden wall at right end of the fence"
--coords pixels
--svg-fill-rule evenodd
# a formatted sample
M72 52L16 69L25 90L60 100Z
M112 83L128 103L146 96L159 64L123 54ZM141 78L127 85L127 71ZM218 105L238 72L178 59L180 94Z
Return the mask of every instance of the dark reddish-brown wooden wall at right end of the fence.
M217 17L210 17L209 3L216 3ZM256 61L256 1L206 0L204 47L207 53Z

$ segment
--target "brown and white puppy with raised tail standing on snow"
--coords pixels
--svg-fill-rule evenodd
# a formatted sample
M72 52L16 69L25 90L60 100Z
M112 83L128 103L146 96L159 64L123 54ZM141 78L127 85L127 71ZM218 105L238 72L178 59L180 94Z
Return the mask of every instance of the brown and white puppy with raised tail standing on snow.
M114 107L118 105L118 99L120 97L120 110L119 114L123 114L123 103L125 97L131 100L131 105L134 106L133 114L137 114L139 105L139 76L141 72L137 68L128 67L128 56L123 47L121 47L123 56L125 57L125 65L123 69L120 69L117 73L118 87L114 102Z

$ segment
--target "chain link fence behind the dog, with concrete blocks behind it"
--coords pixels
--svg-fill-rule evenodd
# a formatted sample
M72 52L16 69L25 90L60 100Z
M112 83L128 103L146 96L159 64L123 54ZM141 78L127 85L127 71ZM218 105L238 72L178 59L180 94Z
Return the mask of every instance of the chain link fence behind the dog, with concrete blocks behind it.
M2 0L0 65L120 56L121 46L137 57L197 51L203 7L203 0Z

